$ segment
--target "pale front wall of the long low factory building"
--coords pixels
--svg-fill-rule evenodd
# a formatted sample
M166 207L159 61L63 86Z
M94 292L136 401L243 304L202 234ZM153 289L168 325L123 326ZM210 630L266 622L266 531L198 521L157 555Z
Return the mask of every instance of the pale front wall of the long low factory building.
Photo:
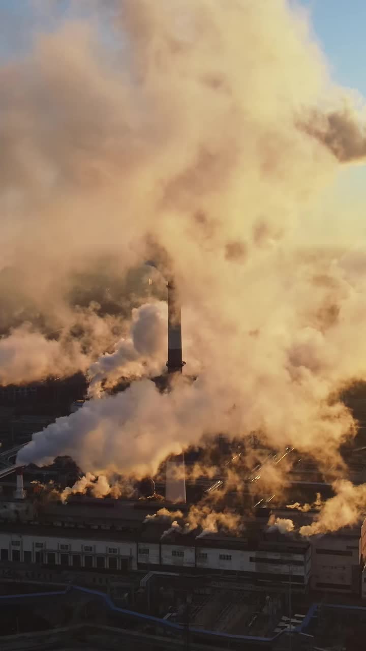
M205 568L223 572L242 572L246 574L261 574L263 578L287 581L301 579L298 583L307 585L311 572L310 549L306 553L281 553L279 551L248 551L245 549L225 549L225 547L201 547L174 545L165 542L114 541L113 534L106 538L95 540L88 538L85 533L80 538L66 537L64 531L58 536L42 536L42 534L0 533L0 549L7 550L9 561L12 560L13 550L20 552L20 561L61 563L61 555L68 555L68 564L75 566L74 561L80 560L81 567L85 557L92 557L92 567L97 568L98 557L104 557L104 566L109 567L109 559L118 559L117 569L128 566L135 570L146 566L176 566L180 568ZM25 551L31 556L24 555ZM296 550L297 551L297 550ZM301 550L299 550L301 551ZM41 553L41 556L36 553ZM48 554L52 556L49 557ZM54 557L53 557L54 554ZM18 556L18 555L17 555ZM74 557L78 556L79 559ZM42 560L40 560L42 559ZM16 559L14 559L16 560ZM327 559L328 560L328 559ZM63 557L65 561L65 557ZM113 568L114 569L114 568Z

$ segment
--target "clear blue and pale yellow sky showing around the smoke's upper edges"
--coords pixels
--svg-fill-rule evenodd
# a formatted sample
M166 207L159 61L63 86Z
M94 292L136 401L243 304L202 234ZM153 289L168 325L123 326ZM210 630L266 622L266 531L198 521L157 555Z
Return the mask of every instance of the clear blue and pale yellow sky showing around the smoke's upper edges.
M217 1L225 3L227 0ZM300 3L309 10L313 32L326 55L335 83L358 90L366 98L366 0L289 0L289 3ZM27 51L33 29L47 29L57 23L69 4L70 0L0 0L0 60ZM42 8L37 19L32 12L35 5ZM79 8L82 7L80 3ZM270 25L268 27L270 29ZM359 207L354 214L363 215L365 179L365 165L343 168L329 191L330 214L334 204L356 202ZM323 219L326 238L331 216ZM352 227L359 230L360 236L366 236L366 227L362 226L364 220L354 219L357 223ZM332 223L331 230L336 228Z

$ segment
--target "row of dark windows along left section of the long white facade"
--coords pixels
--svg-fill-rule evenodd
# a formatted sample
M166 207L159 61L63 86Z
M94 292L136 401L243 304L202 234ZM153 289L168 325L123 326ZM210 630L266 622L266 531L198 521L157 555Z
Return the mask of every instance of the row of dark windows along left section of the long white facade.
M1 561L23 561L25 563L33 562L33 554L31 551L23 551L23 558L21 557L20 549L12 549L11 558L9 557L8 549L0 549L0 560ZM59 556L59 559L57 559ZM73 567L85 567L85 568L100 568L104 570L107 567L109 570L119 570L120 564L124 566L126 559L119 559L115 556L106 557L105 556L89 556L81 554L65 554L60 553L57 555L54 551L36 551L35 552L35 561L38 564L48 564L48 565L63 565Z

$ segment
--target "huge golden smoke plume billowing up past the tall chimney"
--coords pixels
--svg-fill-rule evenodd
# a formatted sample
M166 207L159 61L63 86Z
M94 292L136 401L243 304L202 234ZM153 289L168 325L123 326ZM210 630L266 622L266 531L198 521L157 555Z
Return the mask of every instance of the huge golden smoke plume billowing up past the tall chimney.
M353 252L318 249L318 233L363 128L329 107L337 90L305 18L285 0L83 6L87 20L66 16L0 72L4 259L32 266L27 294L44 298L98 256L122 273L158 243L199 377L90 400L19 462L70 454L84 471L139 474L202 434L260 430L339 464L355 427L329 398L365 376L366 288Z

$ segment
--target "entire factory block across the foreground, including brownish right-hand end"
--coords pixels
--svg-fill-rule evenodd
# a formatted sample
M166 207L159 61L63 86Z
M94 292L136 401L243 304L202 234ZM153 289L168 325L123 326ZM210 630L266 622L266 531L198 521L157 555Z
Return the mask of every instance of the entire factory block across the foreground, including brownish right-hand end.
M291 583L294 590L360 593L365 524L362 531L354 527L306 539L271 531L267 518L248 518L237 536L182 534L170 531L169 520L147 521L155 510L141 501L87 497L38 507L8 501L0 512L0 571L14 565L30 576L40 568L46 574L81 571L90 583L98 573L107 582L109 574L163 571L237 577L261 590ZM297 517L309 521L311 514Z

